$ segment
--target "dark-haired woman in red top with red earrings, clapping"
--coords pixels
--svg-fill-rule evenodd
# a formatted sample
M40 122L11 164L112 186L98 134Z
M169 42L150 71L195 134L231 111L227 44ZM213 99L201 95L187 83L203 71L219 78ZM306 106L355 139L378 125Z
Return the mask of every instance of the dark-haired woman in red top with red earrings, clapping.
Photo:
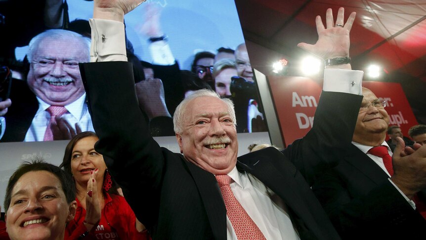
M103 156L95 151L93 132L76 135L68 143L60 167L76 183L77 213L65 239L150 239L123 196L114 188Z

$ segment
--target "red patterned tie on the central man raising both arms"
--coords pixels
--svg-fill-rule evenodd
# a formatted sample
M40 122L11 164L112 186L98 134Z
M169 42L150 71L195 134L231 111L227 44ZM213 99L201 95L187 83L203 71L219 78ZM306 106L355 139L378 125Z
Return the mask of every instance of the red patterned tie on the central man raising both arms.
M231 221L237 238L239 240L266 240L256 223L253 222L253 219L232 193L229 186L231 177L228 175L216 175L216 180L225 201L226 215Z

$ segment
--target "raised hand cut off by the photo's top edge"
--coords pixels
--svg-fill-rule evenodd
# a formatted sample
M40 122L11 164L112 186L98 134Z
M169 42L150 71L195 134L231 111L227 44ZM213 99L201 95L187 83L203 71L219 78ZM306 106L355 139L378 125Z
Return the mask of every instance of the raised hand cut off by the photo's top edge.
M124 15L146 0L94 0L93 18L124 21Z

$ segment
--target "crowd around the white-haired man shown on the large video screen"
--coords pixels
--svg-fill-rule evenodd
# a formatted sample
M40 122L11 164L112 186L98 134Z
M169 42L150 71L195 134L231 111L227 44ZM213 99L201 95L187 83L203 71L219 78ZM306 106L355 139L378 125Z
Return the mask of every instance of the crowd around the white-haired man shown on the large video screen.
M61 4L46 3L45 7L45 14L54 12L60 15L67 11ZM174 136L171 116L176 106L192 91L208 86L221 96L241 102L237 104L237 109L245 117L239 118L239 132L266 131L265 128L251 128L248 123L257 117L248 116L250 99L260 102L255 86L254 95L232 96L231 93L232 77L254 81L245 44L238 46L236 51L219 48L217 54L198 52L191 67L197 77L188 76L186 70L180 69L170 50L168 37L160 24L161 11L151 5L147 11L141 32L148 39L153 62L139 59L126 33L125 39L127 61L133 66L136 93L141 109L150 121L151 134ZM57 18L56 22L61 22L62 18ZM66 22L66 19L62 21ZM48 26L51 28L53 24ZM89 60L89 23L76 19L67 24L55 23L54 26L63 29L45 30L29 41L24 60L28 62L28 70L19 74L20 77L25 76L23 80L26 81L12 81L9 98L0 99L0 118L5 120L2 124L5 129L0 132L1 142L69 140L77 133L94 131L78 67L78 63ZM12 77L17 76L15 73ZM235 85L238 88L239 82ZM258 115L263 118L261 110Z

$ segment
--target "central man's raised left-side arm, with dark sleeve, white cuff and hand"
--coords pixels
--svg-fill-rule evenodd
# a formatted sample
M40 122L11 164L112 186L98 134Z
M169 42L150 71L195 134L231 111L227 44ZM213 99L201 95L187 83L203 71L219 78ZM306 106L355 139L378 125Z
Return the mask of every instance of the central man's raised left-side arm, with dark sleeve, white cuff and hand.
M123 24L124 14L141 2L95 0L95 19L90 19L92 62L81 64L80 70L99 137L95 148L103 154L136 218L151 228L157 214L164 156L149 135L148 122L139 109ZM149 197L140 198L140 191Z

